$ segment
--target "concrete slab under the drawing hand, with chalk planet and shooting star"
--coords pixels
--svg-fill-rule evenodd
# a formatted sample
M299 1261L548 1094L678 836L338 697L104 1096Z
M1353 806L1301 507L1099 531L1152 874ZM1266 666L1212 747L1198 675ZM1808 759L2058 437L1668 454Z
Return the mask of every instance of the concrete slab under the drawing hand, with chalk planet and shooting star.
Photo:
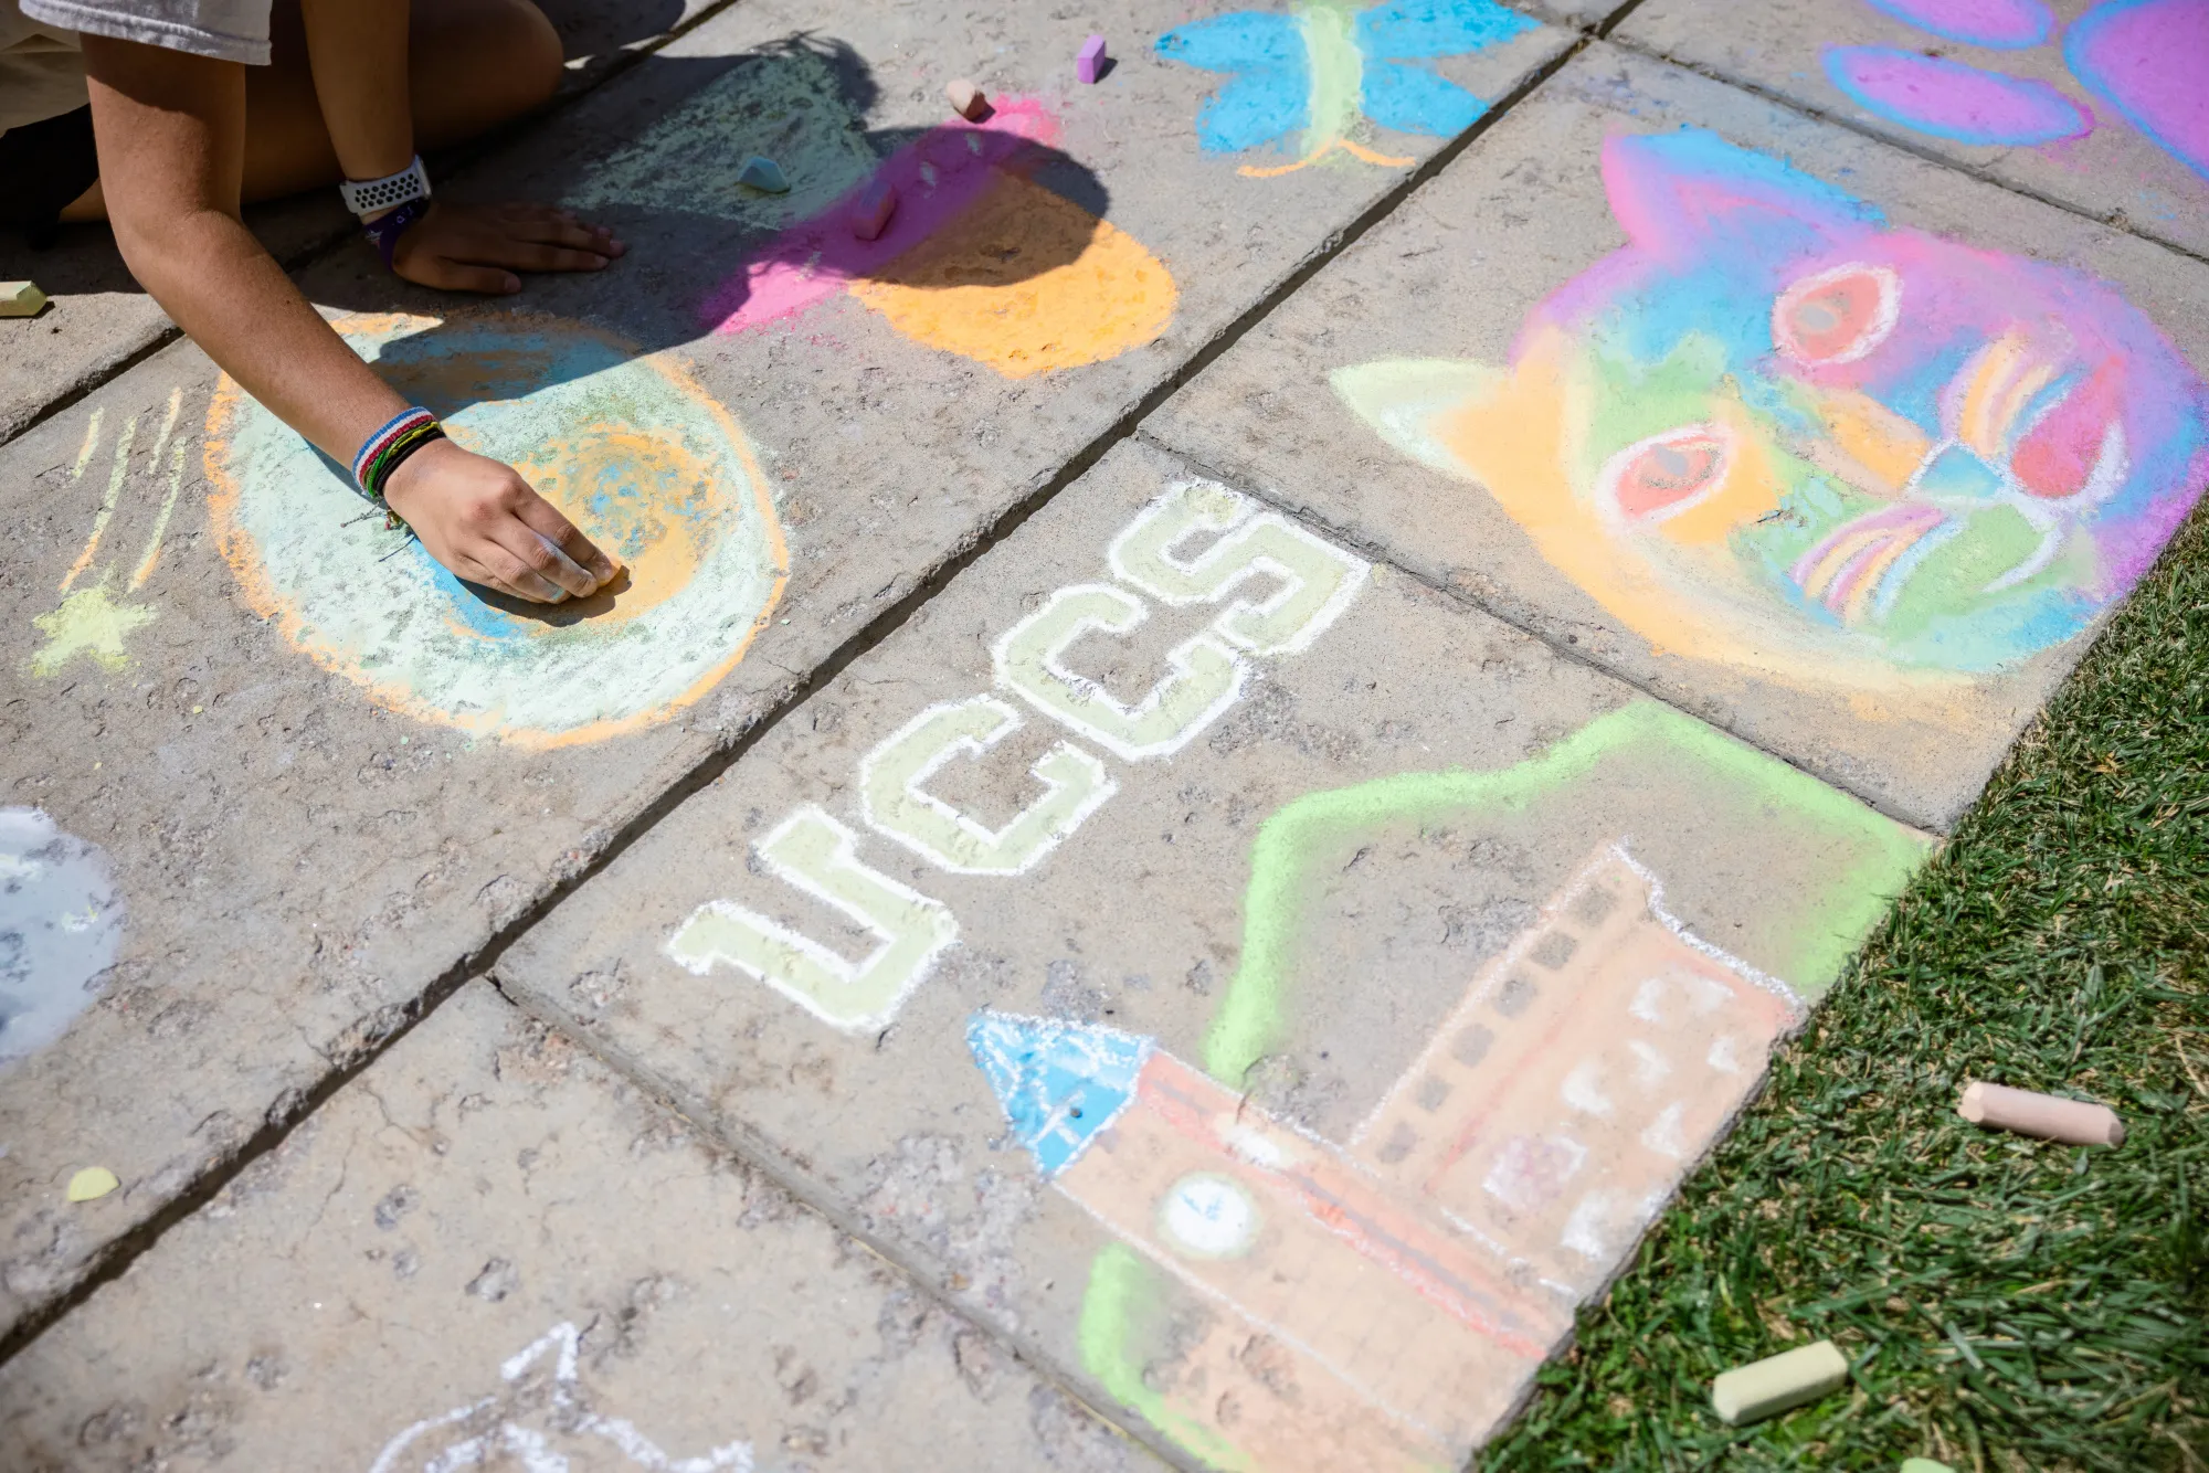
M1465 15L1429 102L1478 110L1458 82L1502 95L1566 44ZM1442 146L1336 117L1310 168L1246 177L1297 155L1208 155L1217 75L1131 29L1080 86L1082 33L736 7L455 186L590 201L632 243L610 274L508 311L395 292L364 245L307 272L409 395L621 548L630 583L583 610L453 583L190 345L0 451L0 802L104 850L126 916L113 969L29 983L75 1022L0 1075L0 1325L1127 422L1403 183L1383 150ZM998 93L981 126L945 124L954 68ZM736 186L749 152L793 190ZM877 168L903 201L862 250L837 201ZM84 1157L124 1210L62 1210Z

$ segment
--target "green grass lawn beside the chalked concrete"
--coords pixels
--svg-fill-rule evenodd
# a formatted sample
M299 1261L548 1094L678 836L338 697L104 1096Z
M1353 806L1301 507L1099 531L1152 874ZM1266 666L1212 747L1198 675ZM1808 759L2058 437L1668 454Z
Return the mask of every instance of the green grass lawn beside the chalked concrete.
M1480 1460L2209 1473L2209 512L2019 742ZM1986 1133L1986 1078L2118 1151ZM1710 1378L1818 1338L1750 1429Z

